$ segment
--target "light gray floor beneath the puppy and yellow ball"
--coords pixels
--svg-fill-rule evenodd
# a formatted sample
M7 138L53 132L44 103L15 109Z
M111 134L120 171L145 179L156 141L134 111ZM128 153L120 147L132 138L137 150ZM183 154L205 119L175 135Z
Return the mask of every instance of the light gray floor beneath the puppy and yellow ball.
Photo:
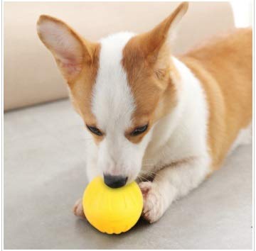
M87 184L83 130L66 100L4 115L5 249L252 248L251 145L159 222L106 235L71 211Z

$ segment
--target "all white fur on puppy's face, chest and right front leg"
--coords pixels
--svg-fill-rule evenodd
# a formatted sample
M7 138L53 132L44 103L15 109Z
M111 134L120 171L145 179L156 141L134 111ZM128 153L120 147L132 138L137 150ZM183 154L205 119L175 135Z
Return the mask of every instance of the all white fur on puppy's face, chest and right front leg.
M141 169L142 175L156 173L153 183L141 184L145 190L144 216L154 222L172 201L196 188L210 172L208 105L198 79L186 65L172 58L181 75L181 81L174 83L178 105L155 123L141 143L129 142L124 131L131 125L135 104L121 65L127 40L129 35L126 39L114 35L102 40L92 112L105 138L94 157L96 167L92 161L89 168L94 168L95 174L127 176L129 182L137 178Z

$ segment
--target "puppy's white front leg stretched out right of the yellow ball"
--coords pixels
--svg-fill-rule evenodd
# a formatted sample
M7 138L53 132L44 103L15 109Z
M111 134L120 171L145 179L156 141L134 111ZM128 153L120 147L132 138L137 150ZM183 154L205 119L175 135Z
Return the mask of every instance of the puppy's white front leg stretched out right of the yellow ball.
M171 203L196 188L209 170L208 158L188 158L156 172L153 182L139 183L144 197L144 218L150 223L159 220Z

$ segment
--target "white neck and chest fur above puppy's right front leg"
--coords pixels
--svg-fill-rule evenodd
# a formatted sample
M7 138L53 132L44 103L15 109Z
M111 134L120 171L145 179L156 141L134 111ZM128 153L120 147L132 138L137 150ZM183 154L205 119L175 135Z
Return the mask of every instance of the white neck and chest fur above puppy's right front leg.
M163 166L189 157L208 156L208 107L203 88L182 62L173 58L181 75L178 104L154 126L146 149L143 170L154 172Z

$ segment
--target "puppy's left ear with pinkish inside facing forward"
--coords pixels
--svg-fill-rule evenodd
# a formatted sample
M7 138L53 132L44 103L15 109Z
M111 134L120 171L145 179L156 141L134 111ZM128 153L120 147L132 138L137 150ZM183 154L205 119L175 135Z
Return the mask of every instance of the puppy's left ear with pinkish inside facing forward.
M37 31L68 82L72 82L83 67L92 63L97 44L81 38L63 21L42 15L37 22Z

